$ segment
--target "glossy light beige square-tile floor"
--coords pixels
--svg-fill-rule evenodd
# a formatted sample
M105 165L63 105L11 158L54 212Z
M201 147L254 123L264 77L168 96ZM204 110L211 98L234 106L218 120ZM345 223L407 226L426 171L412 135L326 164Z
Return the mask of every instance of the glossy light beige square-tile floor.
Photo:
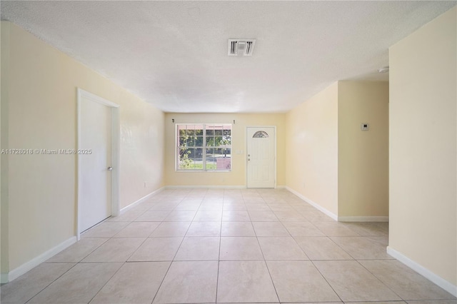
M165 190L3 285L1 303L457 304L387 244L387 223L338 223L283 189Z

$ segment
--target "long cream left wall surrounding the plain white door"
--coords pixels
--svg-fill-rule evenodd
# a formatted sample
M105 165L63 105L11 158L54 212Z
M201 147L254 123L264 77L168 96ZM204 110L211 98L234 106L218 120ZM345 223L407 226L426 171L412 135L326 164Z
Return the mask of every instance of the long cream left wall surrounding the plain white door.
M79 87L120 105L121 207L164 186L161 111L18 26L1 25L1 60L9 63L1 66L1 148L76 148ZM10 155L1 165L7 272L76 234L76 156Z

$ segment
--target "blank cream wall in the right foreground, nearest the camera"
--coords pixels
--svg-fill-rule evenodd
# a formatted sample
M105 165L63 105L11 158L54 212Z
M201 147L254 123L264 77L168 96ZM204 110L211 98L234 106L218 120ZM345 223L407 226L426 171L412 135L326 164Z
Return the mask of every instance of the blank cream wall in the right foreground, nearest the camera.
M457 285L456 7L390 58L389 248Z

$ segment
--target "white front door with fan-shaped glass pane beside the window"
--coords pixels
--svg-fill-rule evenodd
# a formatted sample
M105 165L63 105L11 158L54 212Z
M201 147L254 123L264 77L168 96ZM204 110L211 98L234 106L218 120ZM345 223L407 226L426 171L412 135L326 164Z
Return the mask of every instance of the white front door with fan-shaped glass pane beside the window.
M247 186L274 188L275 186L275 128L247 128Z

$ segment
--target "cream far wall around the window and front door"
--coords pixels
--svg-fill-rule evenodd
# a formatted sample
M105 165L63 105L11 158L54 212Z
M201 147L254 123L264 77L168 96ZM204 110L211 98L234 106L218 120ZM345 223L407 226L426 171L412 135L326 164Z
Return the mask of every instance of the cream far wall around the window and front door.
M241 186L246 187L246 126L276 126L276 184L286 184L285 114L241 113L166 113L165 114L165 183L167 186ZM176 172L175 123L233 123L231 172ZM243 151L237 154L236 151Z

